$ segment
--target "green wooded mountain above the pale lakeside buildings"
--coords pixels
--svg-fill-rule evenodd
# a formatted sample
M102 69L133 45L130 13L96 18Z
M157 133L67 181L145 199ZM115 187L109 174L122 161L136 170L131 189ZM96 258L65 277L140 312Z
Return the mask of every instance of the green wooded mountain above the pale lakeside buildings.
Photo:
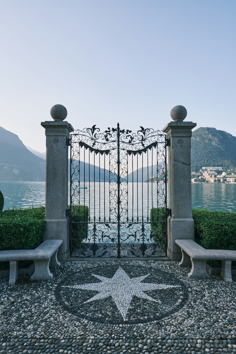
M200 127L192 132L191 167L197 171L203 166L236 167L236 137L215 128Z

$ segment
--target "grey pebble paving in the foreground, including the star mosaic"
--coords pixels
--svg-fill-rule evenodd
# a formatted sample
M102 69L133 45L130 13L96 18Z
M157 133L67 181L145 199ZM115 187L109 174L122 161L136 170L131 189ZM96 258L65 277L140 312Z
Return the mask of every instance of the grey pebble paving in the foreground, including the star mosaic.
M62 263L52 281L0 280L0 353L233 353L236 279L177 262Z

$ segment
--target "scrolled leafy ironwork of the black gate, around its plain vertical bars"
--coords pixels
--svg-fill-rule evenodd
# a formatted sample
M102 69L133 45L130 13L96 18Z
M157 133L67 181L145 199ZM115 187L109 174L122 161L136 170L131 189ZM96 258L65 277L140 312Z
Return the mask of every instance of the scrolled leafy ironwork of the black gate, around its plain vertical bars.
M119 146L118 146L119 145ZM118 156L119 148L119 156ZM81 150L89 150L94 155L109 156L109 216L97 217L89 215L88 232L83 244L78 242L76 230L82 222L73 221L70 213L71 256L82 257L130 257L130 256L163 256L160 247L155 244L150 223L164 225L163 234L157 235L159 240L166 242L166 215L158 221L147 217L131 217L128 215L128 156L142 155L156 149L157 151L157 196L158 205L166 206L166 135L162 131L140 126L137 133L131 130L108 128L101 132L96 125L92 128L76 130L71 135L71 206L80 203L80 160ZM137 157L136 157L137 159ZM94 158L95 161L95 158ZM104 162L105 166L105 162ZM117 168L119 166L119 176ZM105 168L105 167L104 167ZM100 169L100 166L99 166ZM90 175L88 180L90 181ZM95 178L95 173L94 173ZM104 180L105 181L105 180ZM94 187L95 188L95 187ZM105 187L104 187L105 188ZM118 199L119 189L119 199ZM164 192L163 192L164 190ZM104 211L105 213L105 211ZM77 229L76 229L77 227ZM119 245L119 246L118 246ZM119 251L118 251L119 247Z

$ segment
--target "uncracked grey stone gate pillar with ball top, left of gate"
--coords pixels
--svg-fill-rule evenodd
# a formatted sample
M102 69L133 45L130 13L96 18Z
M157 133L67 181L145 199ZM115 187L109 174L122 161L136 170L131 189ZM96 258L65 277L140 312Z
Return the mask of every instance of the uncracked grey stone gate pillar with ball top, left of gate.
M46 232L44 240L63 240L58 250L58 260L66 261L69 256L68 209L68 146L67 139L74 129L63 120L67 110L61 104L51 109L54 121L42 122L46 135Z

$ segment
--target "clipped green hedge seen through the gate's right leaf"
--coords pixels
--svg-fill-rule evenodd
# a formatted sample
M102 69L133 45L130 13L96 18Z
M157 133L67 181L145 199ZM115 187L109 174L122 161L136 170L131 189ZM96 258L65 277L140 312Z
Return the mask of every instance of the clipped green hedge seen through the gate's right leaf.
M152 240L165 252L166 250L166 208L152 208L150 210Z

